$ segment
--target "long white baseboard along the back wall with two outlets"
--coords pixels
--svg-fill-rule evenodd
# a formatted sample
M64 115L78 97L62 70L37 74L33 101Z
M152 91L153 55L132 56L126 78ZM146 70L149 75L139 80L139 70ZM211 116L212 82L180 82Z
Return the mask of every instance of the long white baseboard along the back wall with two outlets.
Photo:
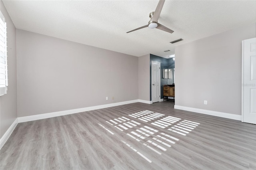
M131 101L118 102L118 103L111 103L111 104L106 104L106 105L84 107L84 108L80 108L80 109L72 109L72 110L67 110L67 111L59 111L59 112L52 112L52 113L44 113L44 114L40 114L40 115L18 117L18 123L28 122L28 121L36 121L36 120L40 120L40 119L47 119L47 118L63 116L63 115L70 115L73 113L92 111L92 110L96 110L96 109L103 109L103 108L107 108L107 107L126 105L126 104L136 103L136 102L139 102L139 100L131 100Z

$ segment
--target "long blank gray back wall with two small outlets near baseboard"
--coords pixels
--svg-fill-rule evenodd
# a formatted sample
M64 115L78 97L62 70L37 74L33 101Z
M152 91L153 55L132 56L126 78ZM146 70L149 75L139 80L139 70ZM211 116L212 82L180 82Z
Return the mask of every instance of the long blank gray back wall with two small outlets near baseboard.
M18 117L138 99L138 57L16 34Z

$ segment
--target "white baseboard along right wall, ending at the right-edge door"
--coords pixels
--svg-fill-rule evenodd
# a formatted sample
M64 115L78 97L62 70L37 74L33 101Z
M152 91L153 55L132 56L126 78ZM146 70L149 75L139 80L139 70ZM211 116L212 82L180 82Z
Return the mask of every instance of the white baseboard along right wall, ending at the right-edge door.
M204 109L196 109L196 108L192 108L192 107L174 105L174 109L202 113L205 115L218 116L218 117L234 119L234 120L238 120L238 121L241 121L241 119L242 119L241 115L234 115L234 114L230 114L230 113L223 113L223 112L217 112L217 111L209 111L209 110L204 110Z

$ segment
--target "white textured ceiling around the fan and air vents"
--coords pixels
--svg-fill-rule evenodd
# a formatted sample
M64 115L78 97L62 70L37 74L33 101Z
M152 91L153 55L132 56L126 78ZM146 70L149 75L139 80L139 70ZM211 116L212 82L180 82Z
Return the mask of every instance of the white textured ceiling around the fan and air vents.
M47 36L134 56L168 57L176 45L256 22L256 1L166 0L158 22L173 34L143 28L158 0L3 0L14 25ZM182 42L169 42L184 39ZM170 49L169 52L164 52Z

